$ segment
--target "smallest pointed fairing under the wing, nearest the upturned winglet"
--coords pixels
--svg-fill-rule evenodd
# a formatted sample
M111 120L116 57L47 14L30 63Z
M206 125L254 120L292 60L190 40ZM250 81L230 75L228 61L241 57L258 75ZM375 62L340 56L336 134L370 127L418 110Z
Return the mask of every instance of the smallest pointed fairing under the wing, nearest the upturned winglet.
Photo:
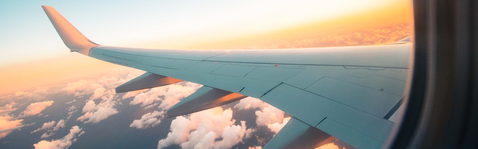
M146 72L116 87L115 90L116 90L116 93L123 93L123 92L130 92L130 91L136 91L141 89L159 87L164 85L171 85L171 84L175 84L179 82L183 82L183 80Z

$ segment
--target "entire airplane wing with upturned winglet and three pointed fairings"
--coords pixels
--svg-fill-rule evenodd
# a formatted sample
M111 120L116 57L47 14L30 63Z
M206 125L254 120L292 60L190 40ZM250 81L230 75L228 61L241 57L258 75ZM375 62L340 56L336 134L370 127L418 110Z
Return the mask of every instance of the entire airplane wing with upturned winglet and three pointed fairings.
M396 124L409 71L411 43L269 50L167 50L91 42L53 7L42 6L72 52L146 71L128 92L181 81L204 85L167 110L168 117L251 96L293 116L266 145L315 148L336 138L378 149Z

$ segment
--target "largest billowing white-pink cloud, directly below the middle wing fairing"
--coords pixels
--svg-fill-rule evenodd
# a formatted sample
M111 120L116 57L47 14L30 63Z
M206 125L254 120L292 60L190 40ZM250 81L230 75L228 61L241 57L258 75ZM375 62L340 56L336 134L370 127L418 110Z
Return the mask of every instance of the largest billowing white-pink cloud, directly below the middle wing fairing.
M234 125L232 110L215 107L193 113L188 117L176 117L171 122L171 132L159 140L158 149L173 144L183 149L229 149L249 138L254 129L246 129L246 122Z

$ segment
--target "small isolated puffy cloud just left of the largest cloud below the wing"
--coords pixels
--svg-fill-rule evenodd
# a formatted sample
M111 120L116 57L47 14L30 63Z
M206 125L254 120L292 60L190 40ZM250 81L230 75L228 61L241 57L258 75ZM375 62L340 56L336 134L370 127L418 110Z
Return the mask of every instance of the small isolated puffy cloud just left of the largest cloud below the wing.
M130 127L131 128L135 127L138 129L154 127L158 125L159 123L161 123L161 119L163 119L164 117L163 114L164 114L164 111L161 111L161 112L154 111L152 113L151 112L147 113L143 115L141 119L133 120L133 123L131 123Z

